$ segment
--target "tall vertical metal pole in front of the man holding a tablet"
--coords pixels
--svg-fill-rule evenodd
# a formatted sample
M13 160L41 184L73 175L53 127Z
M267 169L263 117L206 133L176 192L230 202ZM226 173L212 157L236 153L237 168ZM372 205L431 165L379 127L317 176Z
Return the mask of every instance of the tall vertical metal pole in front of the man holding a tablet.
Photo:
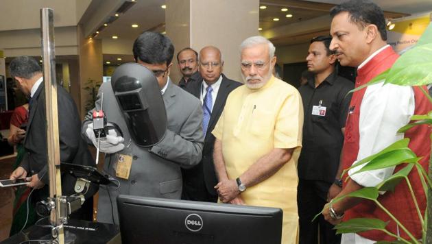
M58 133L56 54L54 53L54 22L53 10L40 9L40 26L43 51L43 80L45 82L45 108L47 115L47 153L49 173L49 197L56 199L56 209L51 211L53 238L58 243L64 243L64 230L60 219L60 196L62 186L60 181L60 146Z

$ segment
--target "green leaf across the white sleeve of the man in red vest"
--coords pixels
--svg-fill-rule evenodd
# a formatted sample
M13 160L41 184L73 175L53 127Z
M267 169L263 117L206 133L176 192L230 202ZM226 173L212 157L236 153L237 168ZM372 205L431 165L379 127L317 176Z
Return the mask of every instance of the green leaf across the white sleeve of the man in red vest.
M380 154L376 158L370 160L365 166L351 175L361 173L364 171L371 171L374 169L384 169L387 167L394 167L398 164L405 162L418 162L420 158L417 158L416 154L409 148L395 149L393 151L387 151L384 154Z

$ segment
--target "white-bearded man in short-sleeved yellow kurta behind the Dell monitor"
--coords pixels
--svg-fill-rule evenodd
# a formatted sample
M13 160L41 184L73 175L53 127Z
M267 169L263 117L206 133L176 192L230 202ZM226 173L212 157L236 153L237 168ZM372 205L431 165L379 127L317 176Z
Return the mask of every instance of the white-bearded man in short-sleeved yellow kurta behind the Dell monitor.
M282 208L282 243L298 243L300 94L272 75L272 42L253 36L240 47L245 86L230 93L213 130L215 188L224 203Z

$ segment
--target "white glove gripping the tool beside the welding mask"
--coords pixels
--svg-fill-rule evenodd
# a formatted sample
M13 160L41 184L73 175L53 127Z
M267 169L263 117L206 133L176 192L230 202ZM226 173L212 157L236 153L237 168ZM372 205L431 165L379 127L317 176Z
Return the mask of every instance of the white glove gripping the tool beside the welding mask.
M89 123L86 129L87 138L90 139L97 148L97 138L95 132L93 132L93 123ZM117 132L114 129L108 130L108 134L104 138L99 139L99 151L106 154L114 154L117 151L123 150L125 145L123 144L123 137L117 136Z

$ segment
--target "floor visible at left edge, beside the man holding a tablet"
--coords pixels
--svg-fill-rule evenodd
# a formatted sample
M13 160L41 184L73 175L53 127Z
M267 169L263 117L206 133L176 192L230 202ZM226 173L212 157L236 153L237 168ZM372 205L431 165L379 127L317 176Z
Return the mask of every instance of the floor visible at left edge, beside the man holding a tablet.
M12 164L15 161L13 158L5 158L0 160L0 179L9 178L12 172ZM0 188L0 241L7 239L10 231L10 224L12 223L12 202L14 200L14 193L12 188Z

